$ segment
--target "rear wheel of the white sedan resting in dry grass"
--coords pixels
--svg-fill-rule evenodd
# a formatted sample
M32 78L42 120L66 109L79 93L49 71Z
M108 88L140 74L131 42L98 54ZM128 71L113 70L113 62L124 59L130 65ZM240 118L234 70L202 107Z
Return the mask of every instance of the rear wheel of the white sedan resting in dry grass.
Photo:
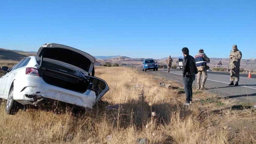
M13 100L13 88L10 90L8 99L5 106L6 114L14 115L17 113L18 110L18 103Z

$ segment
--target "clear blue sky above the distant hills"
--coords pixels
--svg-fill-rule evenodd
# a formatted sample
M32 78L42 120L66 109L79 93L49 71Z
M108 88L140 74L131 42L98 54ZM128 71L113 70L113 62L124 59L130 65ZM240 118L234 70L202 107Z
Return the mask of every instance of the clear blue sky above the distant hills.
M94 56L256 58L255 0L1 0L0 48L60 43Z

